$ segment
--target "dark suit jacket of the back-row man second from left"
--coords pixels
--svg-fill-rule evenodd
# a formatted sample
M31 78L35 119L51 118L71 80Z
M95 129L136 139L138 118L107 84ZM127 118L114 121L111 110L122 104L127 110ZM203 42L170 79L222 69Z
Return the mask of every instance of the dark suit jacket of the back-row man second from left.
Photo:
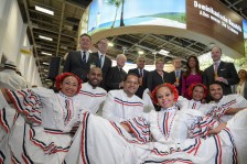
M96 53L92 53L92 55L94 55L95 58L97 59L97 63L96 63L97 67L100 67L100 66L99 66L98 52L96 52ZM103 68L101 68L101 70L103 70L103 80L101 80L101 83L100 83L99 86L100 86L101 88L106 89L106 90L108 90L108 89L107 89L107 86L106 86L106 78L107 78L107 75L108 75L108 73L109 73L109 70L110 70L111 63L112 63L111 59L110 59L109 57L105 56L105 61L104 61Z

